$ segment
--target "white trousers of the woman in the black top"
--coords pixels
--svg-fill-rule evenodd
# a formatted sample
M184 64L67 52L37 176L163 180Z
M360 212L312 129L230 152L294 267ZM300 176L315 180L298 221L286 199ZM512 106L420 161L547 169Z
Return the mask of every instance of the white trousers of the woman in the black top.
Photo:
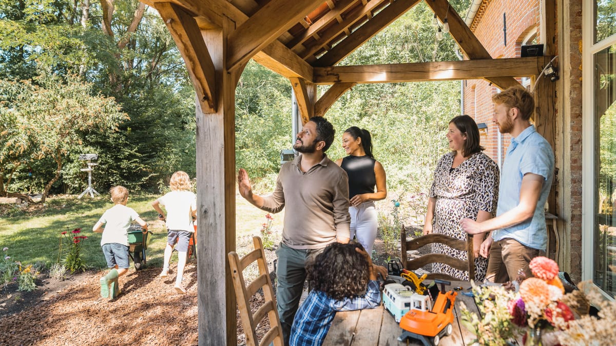
M368 255L372 255L378 228L375 203L366 201L357 207L350 206L349 214L351 214L351 240L355 236Z

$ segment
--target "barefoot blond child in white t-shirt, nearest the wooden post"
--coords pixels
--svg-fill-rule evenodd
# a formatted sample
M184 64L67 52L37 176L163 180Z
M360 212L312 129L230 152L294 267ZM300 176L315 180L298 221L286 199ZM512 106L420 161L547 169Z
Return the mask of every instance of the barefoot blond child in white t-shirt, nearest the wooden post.
M178 293L184 294L186 290L182 286L182 276L186 265L188 241L195 231L193 220L197 218L197 196L190 191L190 177L182 171L177 171L171 176L169 187L171 192L152 202L152 206L160 214L158 218L166 220L168 230L167 246L164 249L163 271L158 277L165 278L169 274L169 260L173 247L176 246L177 276L174 289ZM164 206L166 209L166 217L160 206Z

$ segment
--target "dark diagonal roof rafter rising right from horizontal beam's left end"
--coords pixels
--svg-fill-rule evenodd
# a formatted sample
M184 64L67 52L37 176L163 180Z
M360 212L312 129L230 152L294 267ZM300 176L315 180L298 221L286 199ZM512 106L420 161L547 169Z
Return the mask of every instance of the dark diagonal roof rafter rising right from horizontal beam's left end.
M318 58L312 66L333 66L339 63L347 55L351 54L357 47L361 46L368 39L375 36L379 31L383 30L391 22L394 22L401 15L405 14L411 7L415 6L420 0L396 0L389 4L385 9L381 10L371 20L360 26L352 34L347 36L326 52L322 57Z

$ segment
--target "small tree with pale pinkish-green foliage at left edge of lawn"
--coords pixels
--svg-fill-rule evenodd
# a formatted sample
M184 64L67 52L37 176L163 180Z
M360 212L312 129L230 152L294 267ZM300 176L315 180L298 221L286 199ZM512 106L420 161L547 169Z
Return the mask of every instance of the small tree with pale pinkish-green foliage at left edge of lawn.
M56 165L45 185L43 203L60 178L67 155L83 145L83 133L114 131L121 121L129 119L113 98L91 96L92 84L81 82L74 74L65 81L54 75L43 76L38 85L31 81L0 82L17 127L30 142L32 158L51 158Z

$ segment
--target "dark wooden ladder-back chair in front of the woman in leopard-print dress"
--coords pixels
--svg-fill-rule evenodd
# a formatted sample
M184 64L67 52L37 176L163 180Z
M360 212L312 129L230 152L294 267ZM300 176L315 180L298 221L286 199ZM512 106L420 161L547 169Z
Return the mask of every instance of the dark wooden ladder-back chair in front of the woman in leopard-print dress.
M454 249L460 251L466 251L468 254L467 260L456 259L454 257L444 255L444 254L427 254L420 256L416 259L407 260L407 251L417 250L419 247L432 244L432 243L440 243L445 244L447 246L453 247ZM414 238L411 240L407 240L407 230L402 225L402 230L400 231L400 247L402 249L402 256L400 260L402 262L402 267L408 270L416 270L418 268L423 267L426 264L431 263L441 263L447 264L452 268L456 268L458 270L463 270L468 272L468 277L470 280L475 280L475 257L472 253L472 236L467 235L466 241L453 238L451 236L441 235L432 233L429 235L420 236L419 238ZM428 274L428 279L441 279L441 280L453 280L458 281L457 278L454 278L451 275L443 274L443 273L430 273Z

